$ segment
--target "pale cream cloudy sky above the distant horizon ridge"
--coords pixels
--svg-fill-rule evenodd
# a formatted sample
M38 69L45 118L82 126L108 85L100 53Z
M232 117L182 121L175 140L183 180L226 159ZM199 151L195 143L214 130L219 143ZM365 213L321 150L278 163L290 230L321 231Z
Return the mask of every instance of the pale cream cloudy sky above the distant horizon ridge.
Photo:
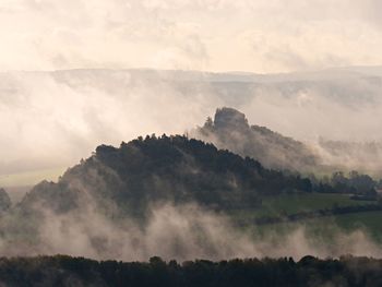
M1 0L0 69L382 64L380 0Z

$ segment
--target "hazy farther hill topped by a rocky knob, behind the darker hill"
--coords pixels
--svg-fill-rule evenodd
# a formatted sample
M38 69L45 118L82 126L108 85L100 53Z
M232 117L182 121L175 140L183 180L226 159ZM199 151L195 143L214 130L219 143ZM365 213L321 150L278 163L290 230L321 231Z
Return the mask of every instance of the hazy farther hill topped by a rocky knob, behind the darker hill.
M232 108L217 109L214 119L208 118L191 133L219 148L255 158L267 168L307 172L321 164L306 144L265 127L250 125L246 116Z

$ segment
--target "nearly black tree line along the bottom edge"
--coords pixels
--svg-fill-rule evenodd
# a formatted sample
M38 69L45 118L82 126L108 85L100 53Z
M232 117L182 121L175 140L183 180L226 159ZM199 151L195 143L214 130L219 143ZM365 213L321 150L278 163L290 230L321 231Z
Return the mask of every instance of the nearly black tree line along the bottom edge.
M235 259L178 263L158 256L148 262L95 261L68 255L1 258L2 286L382 286L382 260L342 256L299 261Z

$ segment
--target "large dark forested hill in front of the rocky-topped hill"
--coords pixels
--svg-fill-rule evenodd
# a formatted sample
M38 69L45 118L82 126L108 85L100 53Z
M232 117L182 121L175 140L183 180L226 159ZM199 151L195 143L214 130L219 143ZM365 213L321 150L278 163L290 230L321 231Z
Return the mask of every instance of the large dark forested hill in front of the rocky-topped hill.
M37 184L21 206L38 203L64 212L91 198L104 207L138 213L163 201L237 208L259 205L262 194L291 190L310 191L311 183L202 141L152 135L118 148L98 146L58 183Z

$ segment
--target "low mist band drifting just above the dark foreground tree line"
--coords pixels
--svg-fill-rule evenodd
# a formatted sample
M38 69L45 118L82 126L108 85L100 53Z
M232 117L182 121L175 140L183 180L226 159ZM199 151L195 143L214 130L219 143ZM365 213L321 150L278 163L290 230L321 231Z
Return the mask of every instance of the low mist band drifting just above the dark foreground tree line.
M336 258L343 254L381 258L382 251L362 230L339 231L332 240L309 235L303 225L285 235L235 225L227 216L196 204L153 206L145 224L132 218L111 220L92 204L68 214L45 208L37 223L2 218L0 252L7 256L69 254L98 260L146 261L153 255L165 260L227 260L235 258L279 258L296 260L306 254ZM34 222L36 224L36 222Z

